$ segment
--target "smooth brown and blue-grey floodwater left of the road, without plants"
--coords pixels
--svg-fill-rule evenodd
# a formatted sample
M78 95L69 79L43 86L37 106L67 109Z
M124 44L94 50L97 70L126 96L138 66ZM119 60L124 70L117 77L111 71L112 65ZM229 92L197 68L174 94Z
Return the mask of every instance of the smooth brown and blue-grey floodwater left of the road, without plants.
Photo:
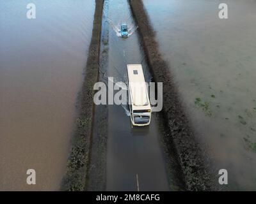
M52 191L65 173L95 1L0 2L0 190ZM36 185L26 171L36 171Z

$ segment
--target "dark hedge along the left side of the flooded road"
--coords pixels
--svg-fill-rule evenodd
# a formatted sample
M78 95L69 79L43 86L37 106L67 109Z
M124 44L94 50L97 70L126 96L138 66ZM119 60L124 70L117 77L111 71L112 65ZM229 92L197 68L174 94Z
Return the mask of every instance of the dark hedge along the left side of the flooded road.
M100 55L100 33L104 0L95 0L92 40L88 52L86 69L78 101L79 116L72 140L67 172L61 184L61 191L84 191L88 178L90 146L93 129L93 85L98 80Z

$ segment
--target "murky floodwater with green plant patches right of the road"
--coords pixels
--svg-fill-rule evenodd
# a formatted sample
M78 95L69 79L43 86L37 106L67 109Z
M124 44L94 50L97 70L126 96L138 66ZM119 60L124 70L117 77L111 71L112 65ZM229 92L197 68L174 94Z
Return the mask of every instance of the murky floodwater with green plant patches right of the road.
M256 1L143 3L220 189L256 190Z

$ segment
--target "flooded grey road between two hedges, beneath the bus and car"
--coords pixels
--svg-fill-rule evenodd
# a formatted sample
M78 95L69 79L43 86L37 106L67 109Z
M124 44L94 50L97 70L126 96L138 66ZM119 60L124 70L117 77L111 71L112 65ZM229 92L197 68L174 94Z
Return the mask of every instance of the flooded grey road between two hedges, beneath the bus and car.
M122 22L136 28L129 4L127 1L106 1L104 13L108 18L108 22L103 22L108 29L108 32L103 31L108 34L108 39L103 40L108 46L108 77L113 77L115 82L127 82L127 64L142 64L145 80L150 82L138 33L133 32L129 38L121 38L116 33L115 27ZM152 115L149 127L132 128L127 107L108 106L107 191L170 190L160 145L163 132L158 127L156 115Z

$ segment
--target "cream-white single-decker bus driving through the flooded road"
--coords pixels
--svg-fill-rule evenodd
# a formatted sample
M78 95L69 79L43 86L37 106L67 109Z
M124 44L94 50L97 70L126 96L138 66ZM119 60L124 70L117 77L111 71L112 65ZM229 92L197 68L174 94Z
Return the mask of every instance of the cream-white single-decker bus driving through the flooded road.
M129 108L133 126L148 126L151 107L141 64L127 64Z

